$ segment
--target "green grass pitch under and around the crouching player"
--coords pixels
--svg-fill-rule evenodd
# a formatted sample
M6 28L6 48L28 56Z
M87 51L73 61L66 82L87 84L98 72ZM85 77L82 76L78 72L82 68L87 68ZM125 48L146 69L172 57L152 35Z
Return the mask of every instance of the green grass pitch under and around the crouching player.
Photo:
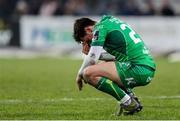
M116 100L75 77L80 60L0 59L1 120L164 120L180 119L180 63L157 59L151 84L135 88L144 105L133 116L115 117Z

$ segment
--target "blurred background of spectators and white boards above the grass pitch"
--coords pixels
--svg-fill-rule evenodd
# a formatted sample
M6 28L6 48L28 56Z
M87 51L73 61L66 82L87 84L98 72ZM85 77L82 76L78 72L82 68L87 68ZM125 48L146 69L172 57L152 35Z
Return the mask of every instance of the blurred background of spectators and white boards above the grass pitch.
M0 0L0 56L80 56L79 17L114 15L142 35L153 55L180 50L180 0Z

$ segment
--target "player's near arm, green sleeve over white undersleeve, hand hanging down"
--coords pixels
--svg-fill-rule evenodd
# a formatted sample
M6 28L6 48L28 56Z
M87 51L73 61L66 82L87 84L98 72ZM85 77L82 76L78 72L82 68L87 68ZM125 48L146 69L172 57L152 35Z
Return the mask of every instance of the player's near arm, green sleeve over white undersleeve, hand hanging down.
M91 42L91 47L87 46L88 48L90 48L89 53L85 57L83 64L81 65L81 68L79 69L78 76L76 78L79 90L81 90L83 87L82 75L83 75L84 69L87 66L96 64L103 51L103 45L106 38L106 34L107 34L107 30L104 27L104 25L102 23L96 24L93 30L93 38Z

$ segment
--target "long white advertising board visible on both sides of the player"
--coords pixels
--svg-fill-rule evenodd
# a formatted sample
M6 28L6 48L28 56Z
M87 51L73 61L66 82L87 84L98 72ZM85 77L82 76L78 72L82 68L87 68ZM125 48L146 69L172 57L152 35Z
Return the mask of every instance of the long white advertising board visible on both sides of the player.
M80 46L72 38L74 20L79 17L24 16L20 21L20 42L23 48L69 51ZM91 16L95 20L100 17ZM135 31L153 52L180 50L180 18L119 17Z

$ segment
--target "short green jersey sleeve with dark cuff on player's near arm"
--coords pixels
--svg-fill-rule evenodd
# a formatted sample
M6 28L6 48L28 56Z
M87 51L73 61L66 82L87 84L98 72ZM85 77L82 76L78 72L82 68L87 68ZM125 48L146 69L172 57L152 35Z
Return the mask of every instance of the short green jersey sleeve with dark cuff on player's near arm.
M91 46L103 46L107 35L107 29L104 25L97 25L93 30L93 39Z

